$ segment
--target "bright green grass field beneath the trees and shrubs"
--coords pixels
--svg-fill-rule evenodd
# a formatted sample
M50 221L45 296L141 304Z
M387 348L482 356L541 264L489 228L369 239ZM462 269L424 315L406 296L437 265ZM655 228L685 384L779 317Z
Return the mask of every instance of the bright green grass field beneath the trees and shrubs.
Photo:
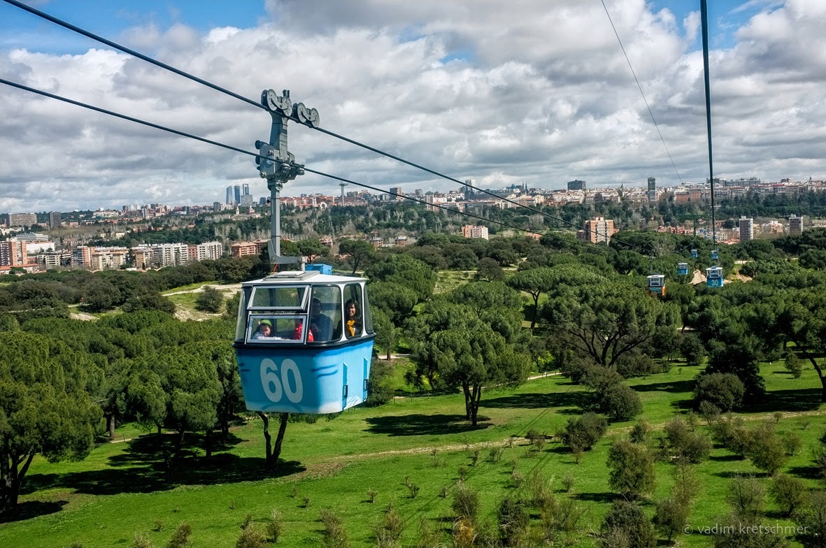
M676 365L667 373L629 380L643 399L644 418L661 429L675 413L686 413L697 371ZM757 412L743 416L757 426L759 420L774 421L774 413L782 413L777 429L794 430L805 442L784 470L811 487L821 486L809 452L824 428L815 372L806 369L801 379L792 379L779 364L765 364L762 373L769 393ZM415 546L422 515L444 529L449 543L450 493L462 466L468 468L465 484L482 493L482 516L491 520L496 503L515 489L510 482L513 466L525 477L537 470L546 479L554 478L559 497L575 498L586 508L581 532L567 541L594 546L589 531L599 530L615 498L605 465L610 437L624 435L633 423L611 424L608 436L586 452L580 464L555 439L539 454L531 454L523 438L529 429L552 435L563 428L568 418L581 413L583 395L582 387L561 376L531 380L516 389L485 390L478 428L463 419L460 394L395 399L379 408L350 409L332 420L290 423L278 473L271 477L261 471L261 421L252 418L238 423L225 446L208 460L202 437L188 437L188 454L171 484L164 482L156 437L126 425L117 431L119 442L103 442L85 461L51 464L36 459L21 496L20 515L0 524L0 546L68 547L73 541L86 548L129 546L136 532L147 535L154 546L165 546L178 523L188 522L192 546L230 547L248 514L263 525L272 508L284 519L280 546L320 546L322 508L340 514L352 546L373 546L373 527L388 503L405 520L404 546ZM271 432L278 428L273 423ZM497 447L504 447L501 461L491 461L491 449ZM479 451L477 465L471 465L474 451ZM671 467L657 463L656 492L643 503L649 516L653 501L670 489ZM724 494L733 475L768 481L749 461L717 447L696 471L701 491L692 527L713 526L726 513ZM561 489L566 475L575 479L570 494ZM420 487L415 498L407 482ZM447 497L442 496L444 488ZM375 503L368 489L377 492ZM765 522L791 524L777 517L773 503L767 503L767 510ZM681 535L677 541L681 546L710 546L710 537L699 534Z

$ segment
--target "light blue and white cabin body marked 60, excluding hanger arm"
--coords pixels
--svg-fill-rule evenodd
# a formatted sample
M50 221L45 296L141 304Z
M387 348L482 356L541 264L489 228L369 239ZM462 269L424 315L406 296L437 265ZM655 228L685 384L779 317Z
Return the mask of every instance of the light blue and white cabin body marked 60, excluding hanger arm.
M235 356L250 411L338 413L367 398L363 278L279 272L241 284Z

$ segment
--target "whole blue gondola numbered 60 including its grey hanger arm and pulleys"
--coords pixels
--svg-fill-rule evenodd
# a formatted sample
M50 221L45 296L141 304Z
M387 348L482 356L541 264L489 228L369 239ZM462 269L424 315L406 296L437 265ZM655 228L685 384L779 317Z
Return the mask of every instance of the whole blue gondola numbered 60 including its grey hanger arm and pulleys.
M255 142L255 163L270 191L268 248L276 272L241 284L232 346L244 402L264 413L339 413L367 399L376 337L367 280L334 276L326 265L308 272L304 257L282 256L279 193L304 173L304 164L287 151L287 122L317 128L319 115L303 103L293 105L287 90L264 90L261 103L273 125L269 143ZM299 269L278 272L291 264Z

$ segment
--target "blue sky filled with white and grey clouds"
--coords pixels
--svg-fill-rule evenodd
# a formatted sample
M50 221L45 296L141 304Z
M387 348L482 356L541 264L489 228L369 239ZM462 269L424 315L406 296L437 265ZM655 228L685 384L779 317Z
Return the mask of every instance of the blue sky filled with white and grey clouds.
M25 0L321 127L481 187L705 181L699 0ZM826 2L712 0L714 174L826 178ZM254 151L268 114L0 0L0 78ZM300 125L308 168L438 179ZM210 204L254 160L0 84L0 212ZM338 192L307 174L285 194Z

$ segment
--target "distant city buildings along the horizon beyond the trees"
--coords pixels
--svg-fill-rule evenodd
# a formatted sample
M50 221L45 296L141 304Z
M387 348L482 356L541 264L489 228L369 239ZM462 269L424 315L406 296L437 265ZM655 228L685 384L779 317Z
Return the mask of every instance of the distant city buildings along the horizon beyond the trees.
M685 183L679 187L657 187L655 177L648 177L644 187L599 188L588 189L586 181L575 179L567 182L566 188L545 190L528 188L525 185L511 185L501 189L477 189L472 179L465 181L465 186L447 192L423 192L420 189L406 194L399 187L390 189L390 193L371 194L368 191L345 191L346 185L341 186L340 196L324 194L302 194L301 196L282 196L282 204L297 210L326 209L335 206L367 206L381 205L393 201L403 201L412 197L425 204L428 210L449 208L459 212L480 211L486 207L514 208L528 206L564 206L567 204L595 204L598 202L619 203L628 202L636 206L653 206L662 199L672 200L675 203L700 203L710 201L711 185L704 183ZM714 179L714 199L731 200L746 198L750 195L787 195L794 196L805 192L826 191L826 182L809 181L791 182L782 179L780 182L762 182L757 177L741 178L737 180ZM506 198L508 201L502 201ZM260 218L261 206L267 206L268 196L260 197L257 201L249 192L249 185L235 185L226 187L225 202L215 202L211 206L165 206L149 204L146 206L122 206L120 210L96 210L88 215L74 215L78 212L48 213L45 224L49 229L61 227L80 227L94 224L130 224L141 223L168 215L178 216L209 216L211 222L222 220L240 221L250 218ZM256 206L259 206L256 210ZM439 207L437 207L439 206ZM64 219L65 217L65 219ZM44 218L40 214L41 222ZM718 230L720 243L737 243L754 239L758 234L800 234L803 230L802 216L790 215L787 223L771 220L765 224L756 224L752 218L745 216L738 220L736 229L723 229L722 222ZM31 227L42 227L35 213L7 213L0 215L0 234L6 239L0 241L0 274L12 272L40 272L50 268L74 267L89 270L106 270L130 266L137 269L159 268L187 264L188 262L218 259L225 253L234 257L258 255L267 247L267 239L257 239L251 242L231 243L225 248L224 243L218 241L187 244L187 243L159 243L140 244L135 247L116 246L89 246L88 239L61 238L59 242L47 234L38 234L28 231ZM660 231L670 231L684 234L684 227L659 227ZM585 220L578 236L593 243L609 242L611 235L618 229L614 220L595 217ZM706 229L700 229L700 236L706 236ZM124 238L126 230L110 232L113 239ZM488 238L488 229L485 226L468 224L463 226L462 234L465 238ZM406 245L406 235L399 235L392 243L386 243L377 234L368 235L367 239L374 247ZM333 246L333 239L321 237L320 242L328 247Z

